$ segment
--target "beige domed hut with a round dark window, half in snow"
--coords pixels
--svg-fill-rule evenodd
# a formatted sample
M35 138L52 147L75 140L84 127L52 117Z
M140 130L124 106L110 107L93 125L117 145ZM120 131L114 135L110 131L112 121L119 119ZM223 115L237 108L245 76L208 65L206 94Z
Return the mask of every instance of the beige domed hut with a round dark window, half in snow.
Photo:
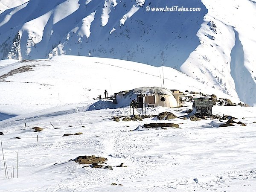
M179 106L179 96L179 90L169 90L165 87L139 87L115 93L113 102L129 105L135 99L137 101L137 108L154 108L157 106L176 108Z

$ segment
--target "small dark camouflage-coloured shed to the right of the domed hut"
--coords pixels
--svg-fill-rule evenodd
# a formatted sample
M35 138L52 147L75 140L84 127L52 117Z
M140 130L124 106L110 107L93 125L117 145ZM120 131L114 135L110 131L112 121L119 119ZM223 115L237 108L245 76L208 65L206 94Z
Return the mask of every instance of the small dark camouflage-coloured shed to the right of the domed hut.
M207 97L200 97L195 98L193 103L193 111L195 114L200 115L212 115L212 106L213 103L210 98Z

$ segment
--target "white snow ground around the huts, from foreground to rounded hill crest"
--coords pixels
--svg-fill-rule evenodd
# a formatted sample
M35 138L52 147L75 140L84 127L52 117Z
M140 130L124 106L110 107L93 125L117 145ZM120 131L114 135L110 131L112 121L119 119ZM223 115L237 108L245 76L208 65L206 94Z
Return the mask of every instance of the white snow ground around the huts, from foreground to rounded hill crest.
M110 96L141 86L161 86L162 71L166 88L215 94L233 102L239 102L237 98L172 68L131 61L57 56L1 61L0 66L0 118L5 118L0 121L0 140L9 176L6 179L0 158L0 191L248 192L256 188L255 107L213 106L213 114L231 115L247 125L219 128L223 123L216 119L148 117L116 122L113 117L130 116L130 108L93 99L105 89ZM192 103L146 108L146 114L169 111L181 117L188 109ZM180 128L142 127L149 122L171 122ZM33 127L44 130L33 132ZM78 132L83 134L62 137ZM71 161L82 155L108 158L106 165L113 170L83 168ZM115 167L120 163L127 167Z

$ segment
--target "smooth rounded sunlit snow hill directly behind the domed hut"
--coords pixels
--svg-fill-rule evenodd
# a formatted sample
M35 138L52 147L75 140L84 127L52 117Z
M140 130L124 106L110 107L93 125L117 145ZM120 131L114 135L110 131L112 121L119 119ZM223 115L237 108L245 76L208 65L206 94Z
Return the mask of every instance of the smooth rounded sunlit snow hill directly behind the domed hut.
M79 103L103 96L105 89L112 95L143 86L162 87L163 77L169 89L215 94L240 102L238 97L230 97L170 67L162 69L131 61L63 55L18 61L1 68L0 112L18 115L32 109Z

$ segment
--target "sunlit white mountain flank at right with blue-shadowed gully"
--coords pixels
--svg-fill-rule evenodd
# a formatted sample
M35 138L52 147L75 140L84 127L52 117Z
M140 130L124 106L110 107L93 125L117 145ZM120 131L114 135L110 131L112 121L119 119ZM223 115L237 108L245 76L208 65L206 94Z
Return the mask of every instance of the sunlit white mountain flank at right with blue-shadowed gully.
M256 18L256 2L202 2L208 12L198 31L201 44L181 66L181 71L227 94L237 93L241 100L253 105L256 102L253 53L256 24L251 21Z

